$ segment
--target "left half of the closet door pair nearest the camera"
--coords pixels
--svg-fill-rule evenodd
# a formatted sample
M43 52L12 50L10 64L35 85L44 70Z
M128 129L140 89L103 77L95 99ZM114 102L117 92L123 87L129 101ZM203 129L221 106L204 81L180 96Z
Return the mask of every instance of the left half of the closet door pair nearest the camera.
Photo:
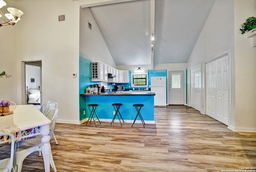
M216 119L215 61L206 64L206 114Z

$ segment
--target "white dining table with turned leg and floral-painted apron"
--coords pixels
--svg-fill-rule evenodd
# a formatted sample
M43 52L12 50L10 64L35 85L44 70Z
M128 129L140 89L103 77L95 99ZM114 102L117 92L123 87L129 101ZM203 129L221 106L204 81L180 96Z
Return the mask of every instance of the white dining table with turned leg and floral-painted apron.
M50 172L50 123L33 104L17 105L13 112L13 122L21 131L21 138L42 135L42 155L44 170Z

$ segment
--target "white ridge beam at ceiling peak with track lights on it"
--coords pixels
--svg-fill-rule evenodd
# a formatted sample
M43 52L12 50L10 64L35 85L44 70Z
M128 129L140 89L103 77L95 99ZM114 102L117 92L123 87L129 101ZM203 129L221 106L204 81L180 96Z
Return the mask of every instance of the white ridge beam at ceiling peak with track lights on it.
M151 40L152 36L155 36L155 0L150 0L150 41L153 45L151 49L151 70L154 69L154 40Z

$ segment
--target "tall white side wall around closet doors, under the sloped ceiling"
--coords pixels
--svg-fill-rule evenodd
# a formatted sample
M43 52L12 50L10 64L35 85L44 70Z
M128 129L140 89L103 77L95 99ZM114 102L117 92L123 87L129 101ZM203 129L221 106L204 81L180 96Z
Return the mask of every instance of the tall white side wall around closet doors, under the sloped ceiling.
M188 69L202 64L202 110L206 113L205 63L224 54L230 57L234 78L234 1L216 0L188 59ZM231 113L234 112L234 79L231 83ZM190 104L190 70L188 70L188 104ZM234 119L234 116L231 117ZM232 123L233 124L233 123ZM230 124L231 125L231 124Z

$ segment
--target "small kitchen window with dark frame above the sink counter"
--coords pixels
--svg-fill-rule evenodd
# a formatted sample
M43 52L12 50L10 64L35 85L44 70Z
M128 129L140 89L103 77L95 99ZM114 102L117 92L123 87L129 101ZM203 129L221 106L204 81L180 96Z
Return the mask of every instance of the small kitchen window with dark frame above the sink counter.
M148 86L148 71L131 71L131 84L132 87L147 87Z

